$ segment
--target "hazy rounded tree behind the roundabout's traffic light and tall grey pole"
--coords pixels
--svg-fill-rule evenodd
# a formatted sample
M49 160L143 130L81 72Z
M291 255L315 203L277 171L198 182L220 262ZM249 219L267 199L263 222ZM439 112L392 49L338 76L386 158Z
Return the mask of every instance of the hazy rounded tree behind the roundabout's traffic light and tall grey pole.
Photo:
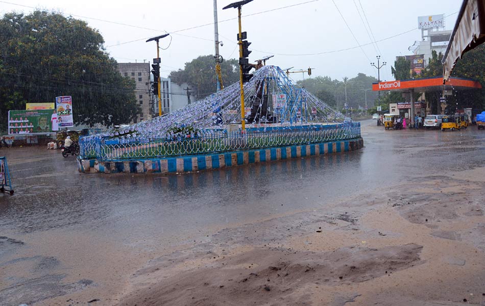
M239 64L235 59L221 63L222 81L225 87L239 81ZM172 71L168 78L176 84L187 83L195 88L198 99L216 91L215 61L212 55L201 55L185 63L184 69Z

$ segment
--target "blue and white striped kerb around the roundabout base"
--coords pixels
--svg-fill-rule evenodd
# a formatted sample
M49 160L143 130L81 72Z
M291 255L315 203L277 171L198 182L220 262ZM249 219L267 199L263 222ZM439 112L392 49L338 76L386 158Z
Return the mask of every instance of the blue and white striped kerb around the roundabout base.
M354 151L362 147L363 140L359 138L307 145L292 145L160 159L109 162L95 159L79 159L78 168L79 172L83 173L181 173Z

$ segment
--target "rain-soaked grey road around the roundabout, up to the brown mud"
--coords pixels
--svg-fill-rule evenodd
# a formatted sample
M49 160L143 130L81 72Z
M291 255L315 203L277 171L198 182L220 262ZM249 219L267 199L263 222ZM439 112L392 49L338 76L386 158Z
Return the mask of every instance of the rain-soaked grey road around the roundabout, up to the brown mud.
M384 131L368 120L362 136L365 148L355 152L168 176L80 174L74 158L59 151L2 149L15 195L0 194L0 236L7 237L0 237L7 246L0 248L0 304L56 295L25 293L35 277L45 285L36 290L58 294L89 282L103 289L126 281L124 273L154 254L204 241L222 228L485 165L485 133L476 127ZM111 273L119 267L114 261L125 262L125 270ZM18 300L2 300L7 293Z

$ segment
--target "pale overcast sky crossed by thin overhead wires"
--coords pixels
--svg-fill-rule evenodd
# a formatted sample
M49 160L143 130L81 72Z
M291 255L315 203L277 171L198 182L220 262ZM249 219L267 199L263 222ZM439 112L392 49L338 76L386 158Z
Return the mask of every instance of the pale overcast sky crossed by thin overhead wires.
M224 42L220 53L225 59L238 57L237 19L224 21L237 17L237 10L222 10L234 1L217 0L219 40ZM459 0L254 0L243 7L243 31L248 32L252 42L251 61L274 54L268 64L283 69L312 67L312 77L329 75L342 80L362 72L377 78L377 70L370 62L375 61L379 49L381 59L388 63L381 70L381 79L392 80L395 57L411 54L408 47L421 39L418 16L445 14L446 29L451 30L461 4ZM292 7L284 8L287 6ZM171 44L169 37L161 41L163 47L168 47L161 50L162 76L183 68L184 63L199 55L214 53L213 0L0 1L2 15L11 11L29 13L34 10L31 7L87 21L101 32L107 51L118 62L152 61L156 46L154 42L146 43L146 39L165 31L173 33ZM255 15L244 17L249 14ZM377 47L366 32L366 17ZM345 22L364 46L358 47ZM198 28L176 32L192 27ZM351 49L342 50L346 48ZM307 55L316 53L320 54ZM300 80L302 75L295 73L292 78Z

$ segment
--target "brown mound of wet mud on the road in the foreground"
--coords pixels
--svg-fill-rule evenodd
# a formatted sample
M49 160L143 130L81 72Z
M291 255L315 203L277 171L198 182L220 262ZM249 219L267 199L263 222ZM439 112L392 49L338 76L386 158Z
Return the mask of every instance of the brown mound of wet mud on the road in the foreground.
M311 291L301 292L299 288L310 284L349 285L389 275L419 265L421 249L416 244L380 249L344 247L329 252L255 248L167 277L125 297L119 305L249 305L278 301L304 305L310 301Z

